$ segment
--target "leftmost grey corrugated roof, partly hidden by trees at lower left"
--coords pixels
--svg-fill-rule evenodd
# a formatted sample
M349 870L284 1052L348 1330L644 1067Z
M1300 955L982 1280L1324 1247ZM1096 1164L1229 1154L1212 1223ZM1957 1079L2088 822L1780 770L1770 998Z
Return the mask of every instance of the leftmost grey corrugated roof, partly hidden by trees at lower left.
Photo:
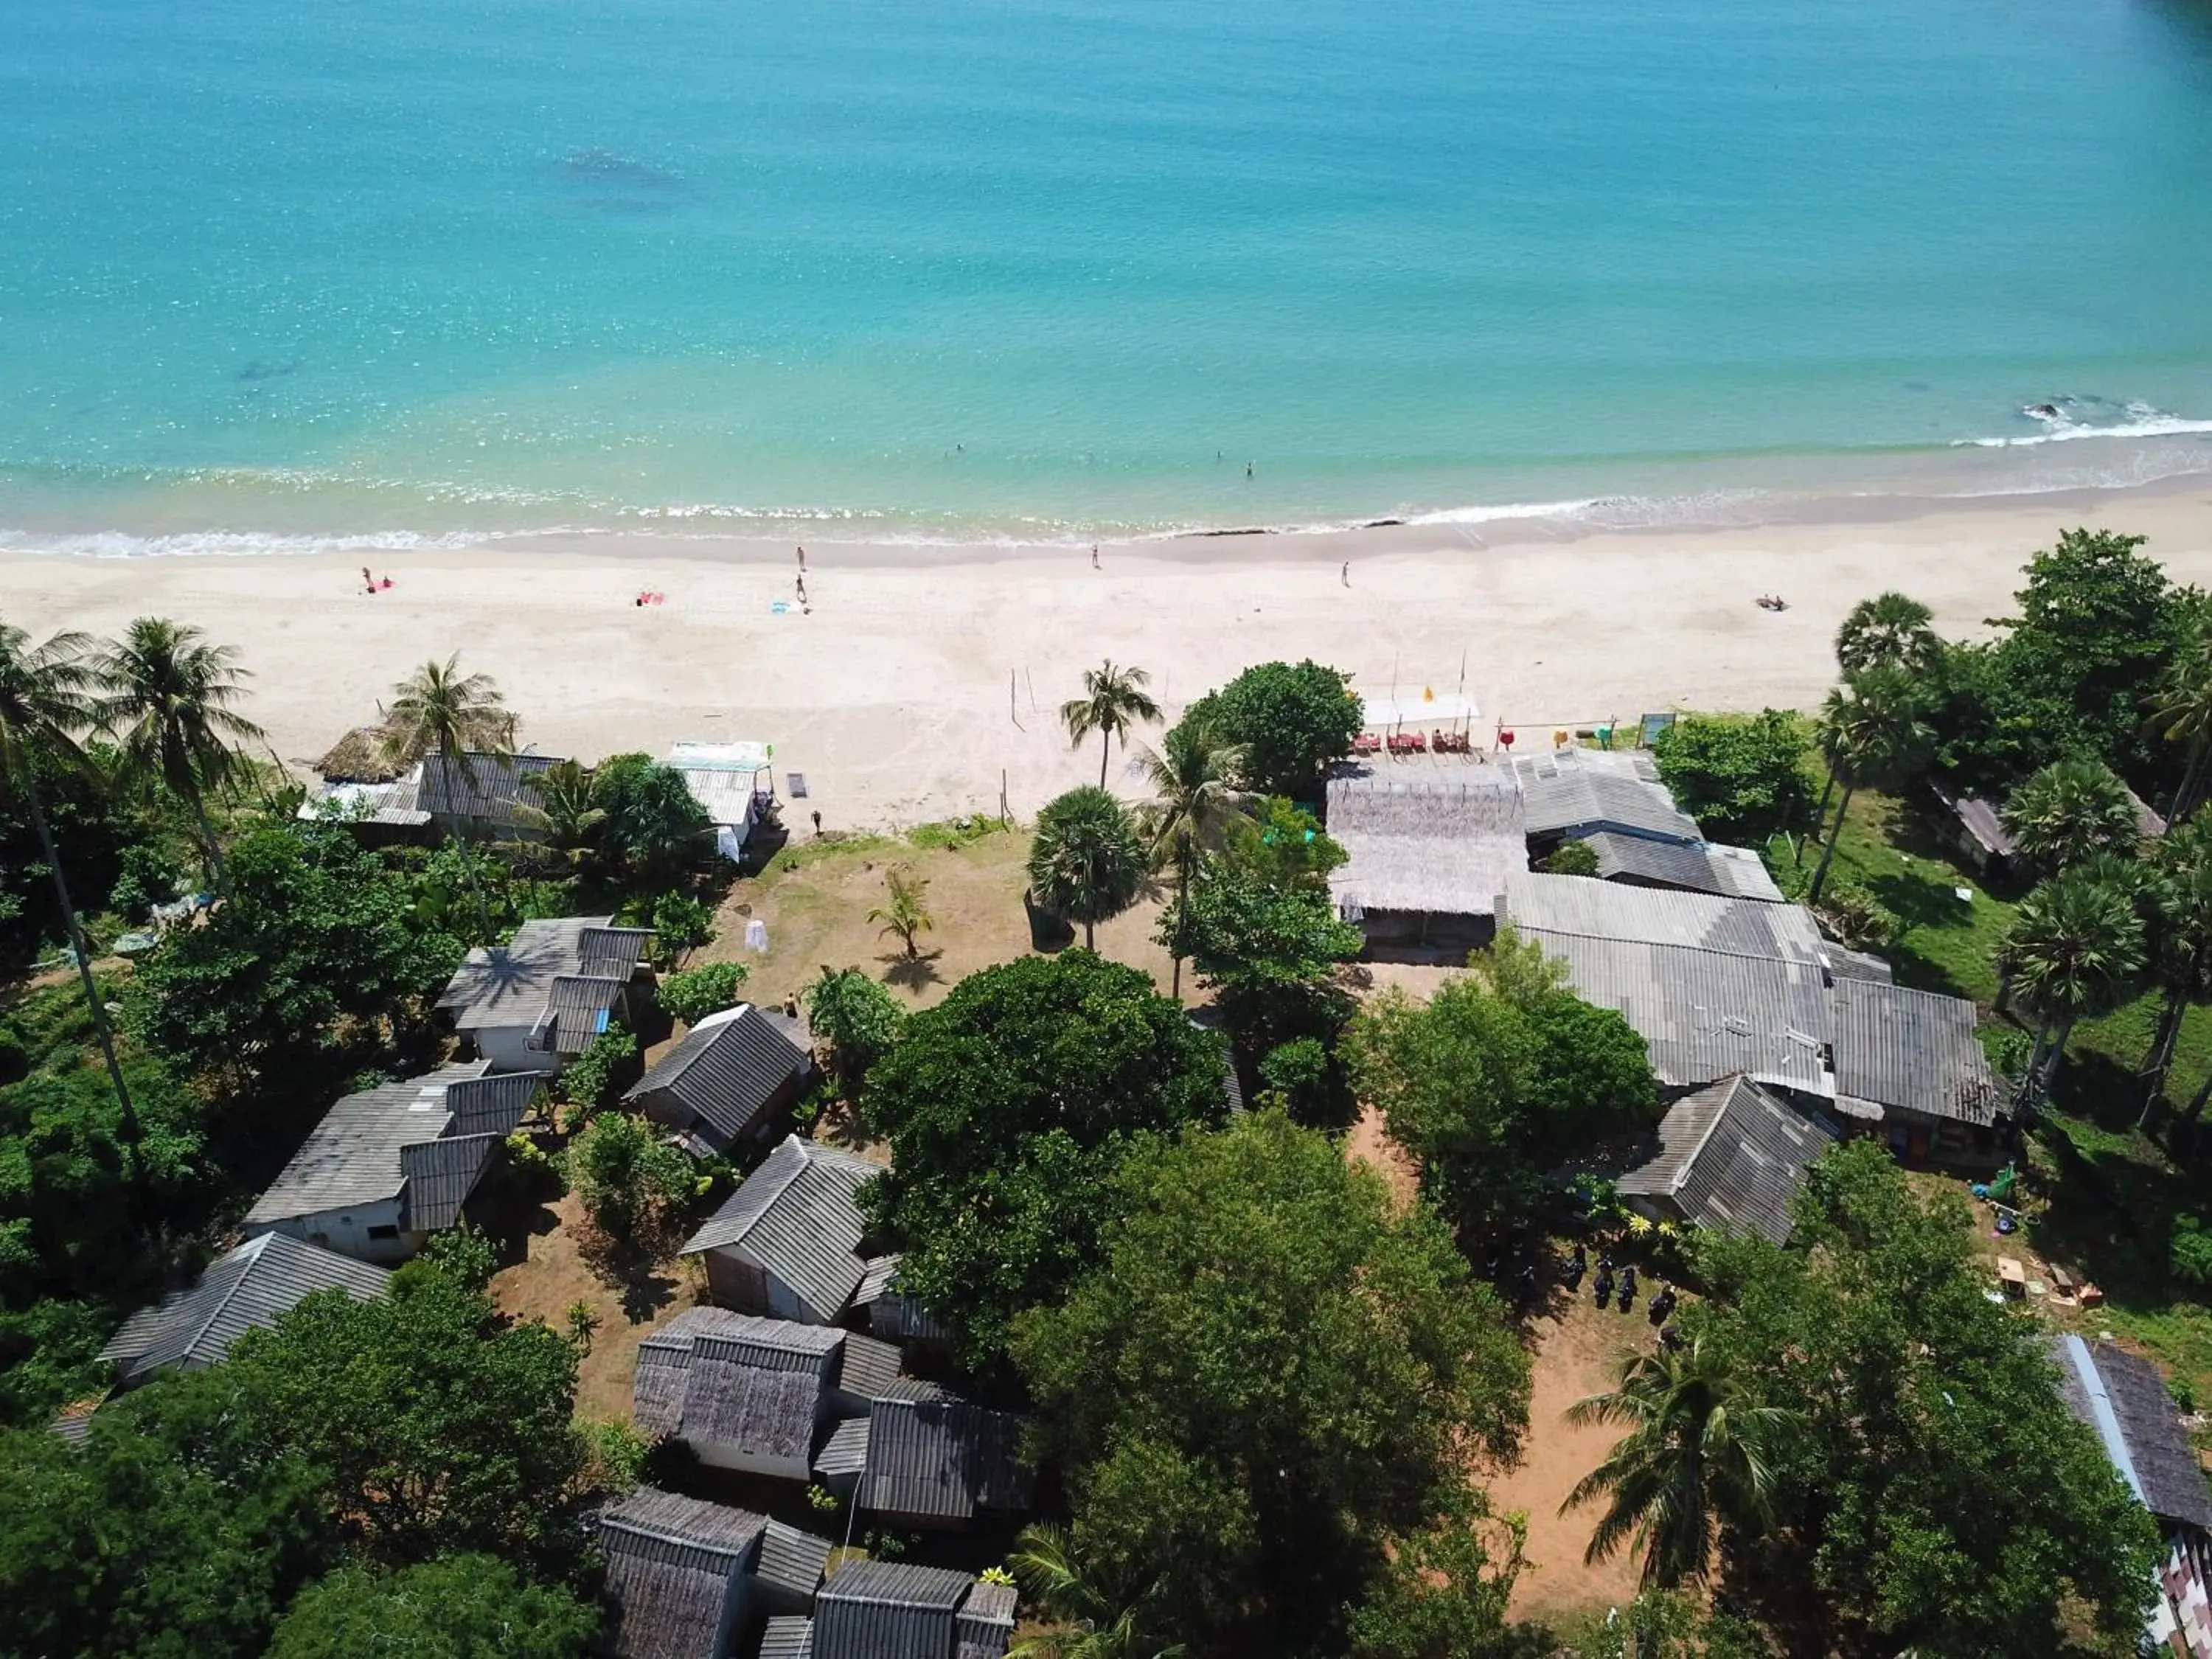
M126 1318L100 1358L117 1367L119 1387L144 1383L166 1365L197 1371L221 1360L246 1332L272 1329L319 1290L367 1298L383 1296L389 1281L383 1267L263 1232L212 1263L188 1290Z

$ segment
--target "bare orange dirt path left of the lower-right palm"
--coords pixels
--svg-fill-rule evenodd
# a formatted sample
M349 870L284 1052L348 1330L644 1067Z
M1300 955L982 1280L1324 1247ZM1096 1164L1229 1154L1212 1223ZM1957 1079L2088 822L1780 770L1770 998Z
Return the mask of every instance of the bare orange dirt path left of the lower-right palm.
M1606 1460L1619 1429L1577 1429L1566 1409L1586 1394L1613 1387L1630 1347L1652 1340L1641 1310L1599 1312L1588 1290L1564 1303L1562 1318L1540 1318L1531 1332L1535 1378L1528 1398L1528 1444L1520 1467L1489 1482L1491 1506L1528 1515L1528 1564L1513 1586L1515 1619L1564 1617L1588 1608L1621 1606L1635 1597L1637 1566L1628 1555L1584 1566L1597 1511L1559 1515L1575 1482Z

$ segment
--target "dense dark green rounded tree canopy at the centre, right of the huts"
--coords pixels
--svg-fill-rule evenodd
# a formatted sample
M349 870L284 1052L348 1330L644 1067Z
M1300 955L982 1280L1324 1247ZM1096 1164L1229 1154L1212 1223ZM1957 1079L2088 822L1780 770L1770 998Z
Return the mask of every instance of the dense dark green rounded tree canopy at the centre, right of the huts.
M1097 1259L1113 1170L1146 1133L1217 1121L1221 1046L1137 969L1071 949L971 973L867 1073L891 1168L860 1206L964 1360Z

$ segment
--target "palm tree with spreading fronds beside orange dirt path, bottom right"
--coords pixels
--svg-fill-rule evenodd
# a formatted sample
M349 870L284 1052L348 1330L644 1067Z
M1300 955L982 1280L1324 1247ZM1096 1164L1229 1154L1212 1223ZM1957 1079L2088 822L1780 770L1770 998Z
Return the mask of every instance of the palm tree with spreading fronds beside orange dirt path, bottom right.
M1637 1354L1619 1387L1568 1407L1568 1422L1621 1422L1628 1433L1559 1504L1606 1500L1586 1562L1635 1540L1644 1582L1672 1588L1705 1577L1714 1526L1774 1520L1774 1458L1792 1416L1756 1405L1728 1363L1697 1336Z

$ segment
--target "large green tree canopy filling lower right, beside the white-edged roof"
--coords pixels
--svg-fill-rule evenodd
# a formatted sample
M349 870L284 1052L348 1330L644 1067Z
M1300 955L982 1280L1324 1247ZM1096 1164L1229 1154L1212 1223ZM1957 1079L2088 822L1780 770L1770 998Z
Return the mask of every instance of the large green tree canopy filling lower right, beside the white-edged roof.
M1692 1332L1803 1425L1776 1526L1721 1533L1732 1593L1792 1650L2020 1659L2077 1652L2075 1621L2132 1650L2157 1526L2059 1402L2042 1325L1982 1294L1958 1192L1847 1141L1787 1250L1701 1234L1699 1267Z

